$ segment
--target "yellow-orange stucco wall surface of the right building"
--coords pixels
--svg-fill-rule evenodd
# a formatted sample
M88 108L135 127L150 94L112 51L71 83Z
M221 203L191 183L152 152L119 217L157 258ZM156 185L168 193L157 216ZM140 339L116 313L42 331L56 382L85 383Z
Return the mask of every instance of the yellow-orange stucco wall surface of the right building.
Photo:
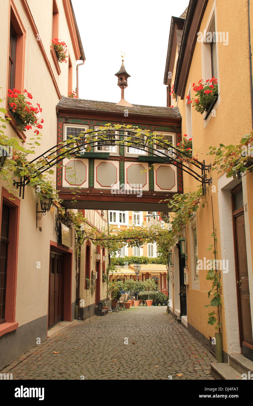
M214 2L209 1L206 7L199 31L203 32L208 23ZM251 100L250 100L250 82L249 82L249 48L248 48L248 23L247 23L247 1L243 0L238 7L237 2L227 0L216 0L218 31L229 32L229 43L223 45L218 42L218 84L220 91L220 104L216 109L216 116L212 117L204 128L203 115L192 108L192 142L193 154L198 156L200 161L205 159L205 163L212 162L212 157L207 155L209 146L218 146L219 143L229 145L237 144L244 134L249 134L252 128L251 124ZM236 18L235 18L236 16ZM253 9L251 6L251 34L253 29ZM240 33L240 34L239 34ZM251 35L251 45L252 45ZM178 100L178 107L182 115L182 134L186 133L186 96L188 89L191 89L192 97L195 93L192 90L192 84L200 79L206 80L209 77L203 77L202 70L202 43L197 42L192 57L192 63L186 84L184 99ZM172 56L173 58L175 57ZM175 78L175 69L173 71L172 83ZM210 244L213 244L212 233L212 203L214 213L214 227L218 242L216 244L217 258L221 258L221 241L219 228L219 210L218 210L218 178L221 176L217 171L209 173L212 176L213 183L208 188L205 208L197 211L197 243L198 258L213 259L212 251L207 252ZM253 213L253 175L247 175L247 193L249 218L252 219ZM195 190L198 182L184 173L184 192ZM216 187L216 191L213 186ZM213 190L213 192L212 192ZM232 219L231 219L232 221ZM199 330L205 337L214 337L213 326L208 325L208 312L214 310L210 307L206 309L205 304L210 302L207 291L210 290L211 283L205 279L207 271L199 271L199 290L192 286L191 261L190 261L190 235L189 225L186 227L186 241L188 242L188 267L189 267L189 286L187 287L187 320L195 329ZM253 235L253 222L250 221L250 234ZM230 270L232 272L232 270ZM221 283L222 281L221 274ZM173 308L174 308L173 289ZM221 322L223 350L228 351L226 339L226 325L224 314L223 290L221 289L222 305ZM210 310L209 310L210 309ZM229 311L229 309L227 309Z

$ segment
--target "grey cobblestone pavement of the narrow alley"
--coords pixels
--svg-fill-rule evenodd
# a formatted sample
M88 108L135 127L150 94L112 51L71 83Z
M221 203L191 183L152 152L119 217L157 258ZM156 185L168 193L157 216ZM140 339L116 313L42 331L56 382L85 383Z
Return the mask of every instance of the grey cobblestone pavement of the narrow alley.
M165 310L137 307L76 322L1 372L13 379L213 379L212 354Z

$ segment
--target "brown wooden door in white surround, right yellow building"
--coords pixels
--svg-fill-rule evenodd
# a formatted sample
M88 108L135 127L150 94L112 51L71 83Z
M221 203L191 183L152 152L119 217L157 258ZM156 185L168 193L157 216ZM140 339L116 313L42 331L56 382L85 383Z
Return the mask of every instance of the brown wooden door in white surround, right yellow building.
M251 325L251 308L249 297L249 275L247 264L246 235L244 224L244 207L242 189L232 191L234 217L234 246L236 260L236 291L238 301L238 318L240 346L242 354L253 361L253 338Z

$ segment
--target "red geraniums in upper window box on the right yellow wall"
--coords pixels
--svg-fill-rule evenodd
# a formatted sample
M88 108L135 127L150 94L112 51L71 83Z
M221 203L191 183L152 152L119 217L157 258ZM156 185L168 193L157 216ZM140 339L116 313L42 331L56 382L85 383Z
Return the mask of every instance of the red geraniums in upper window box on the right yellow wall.
M198 84L192 84L193 90L196 92L195 99L190 100L190 96L186 96L188 104L192 103L192 106L197 112L203 114L212 105L216 97L218 96L218 84L217 79L207 79L204 83L203 80L199 80Z

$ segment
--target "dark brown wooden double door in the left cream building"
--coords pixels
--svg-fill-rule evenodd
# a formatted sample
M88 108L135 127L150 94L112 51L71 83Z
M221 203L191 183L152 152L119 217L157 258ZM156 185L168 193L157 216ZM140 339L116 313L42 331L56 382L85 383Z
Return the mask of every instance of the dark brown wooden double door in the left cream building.
M48 326L63 320L63 264L62 256L50 253Z

